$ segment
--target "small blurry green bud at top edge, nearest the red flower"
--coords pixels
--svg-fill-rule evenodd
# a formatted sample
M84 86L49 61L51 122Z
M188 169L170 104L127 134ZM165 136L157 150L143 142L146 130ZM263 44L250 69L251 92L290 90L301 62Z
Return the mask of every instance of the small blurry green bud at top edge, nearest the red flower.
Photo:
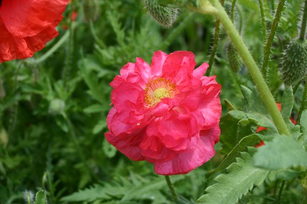
M100 6L98 0L83 0L84 18L87 22L97 20Z

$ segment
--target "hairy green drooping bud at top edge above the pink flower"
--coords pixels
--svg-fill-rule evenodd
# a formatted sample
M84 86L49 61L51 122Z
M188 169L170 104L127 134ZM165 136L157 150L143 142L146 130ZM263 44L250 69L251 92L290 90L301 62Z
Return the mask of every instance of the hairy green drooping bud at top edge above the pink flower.
M156 0L143 0L143 3L153 19L165 28L171 27L178 17L178 9L161 6Z

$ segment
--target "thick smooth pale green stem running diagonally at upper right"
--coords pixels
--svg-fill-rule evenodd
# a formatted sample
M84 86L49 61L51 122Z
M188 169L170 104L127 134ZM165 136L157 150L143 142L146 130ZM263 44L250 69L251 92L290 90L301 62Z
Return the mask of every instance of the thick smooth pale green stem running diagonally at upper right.
M199 9L194 9L195 11L201 11L201 13L211 13L217 15L220 18L220 21L224 25L226 32L228 33L232 43L238 50L239 55L243 59L246 64L246 67L251 74L251 77L254 80L254 83L259 91L259 94L264 101L265 105L268 108L269 113L272 116L272 119L275 123L275 126L279 132L279 134L284 134L290 136L290 132L287 129L287 125L282 119L282 116L277 108L275 103L274 97L270 92L270 89L265 82L264 78L259 71L256 62L254 61L253 57L251 56L248 48L244 44L242 38L238 34L237 30L234 27L234 24L231 22L230 18L228 17L226 11L224 10L223 6L218 2L218 0L210 0L211 4L208 5L207 1L204 4L200 4ZM206 8L204 6L207 6ZM211 6L211 7L210 7ZM207 12L210 9L209 12Z

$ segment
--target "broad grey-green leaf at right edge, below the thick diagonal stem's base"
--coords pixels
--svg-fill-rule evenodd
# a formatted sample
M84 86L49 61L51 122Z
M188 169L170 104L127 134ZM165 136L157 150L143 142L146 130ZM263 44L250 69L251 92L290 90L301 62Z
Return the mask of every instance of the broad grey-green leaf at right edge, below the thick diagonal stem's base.
M279 136L259 147L253 157L253 164L270 170L307 167L307 152L291 137Z

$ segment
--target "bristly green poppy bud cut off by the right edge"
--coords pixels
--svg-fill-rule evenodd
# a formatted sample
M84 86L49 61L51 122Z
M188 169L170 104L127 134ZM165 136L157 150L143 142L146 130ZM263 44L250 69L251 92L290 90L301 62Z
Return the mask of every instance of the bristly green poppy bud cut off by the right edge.
M284 50L281 67L282 79L286 85L295 85L307 73L307 41L292 40Z

